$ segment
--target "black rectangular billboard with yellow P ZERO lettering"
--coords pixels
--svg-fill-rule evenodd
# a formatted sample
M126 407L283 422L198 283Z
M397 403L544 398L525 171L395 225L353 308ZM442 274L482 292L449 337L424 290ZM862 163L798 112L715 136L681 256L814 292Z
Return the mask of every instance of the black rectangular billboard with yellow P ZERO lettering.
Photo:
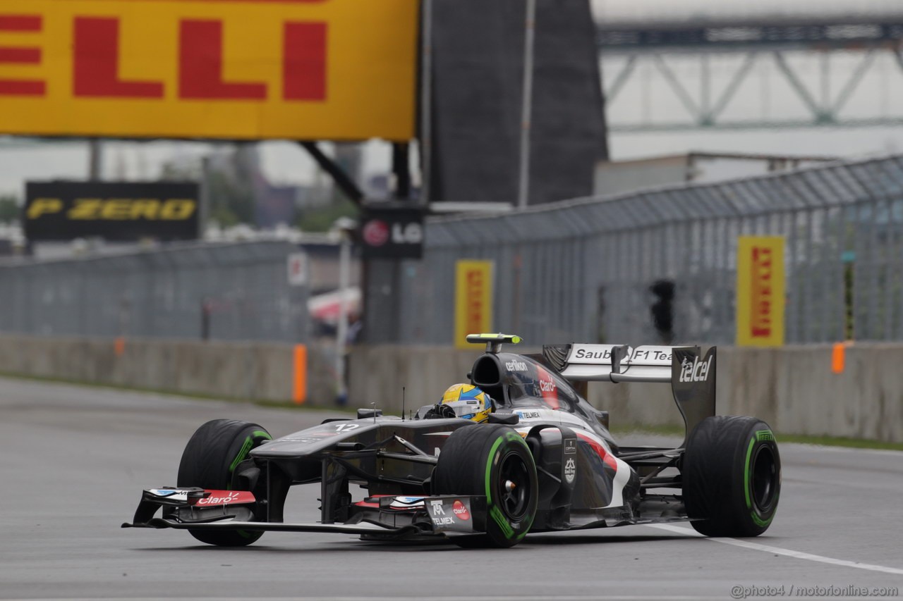
M29 182L25 197L25 237L32 241L198 237L194 183Z

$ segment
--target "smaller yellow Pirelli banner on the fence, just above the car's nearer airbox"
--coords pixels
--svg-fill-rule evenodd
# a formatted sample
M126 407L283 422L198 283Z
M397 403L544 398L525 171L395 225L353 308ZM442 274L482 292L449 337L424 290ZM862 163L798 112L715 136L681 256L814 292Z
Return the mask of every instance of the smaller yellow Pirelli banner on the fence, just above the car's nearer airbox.
M473 346L468 334L492 330L492 262L459 261L455 264L454 345Z

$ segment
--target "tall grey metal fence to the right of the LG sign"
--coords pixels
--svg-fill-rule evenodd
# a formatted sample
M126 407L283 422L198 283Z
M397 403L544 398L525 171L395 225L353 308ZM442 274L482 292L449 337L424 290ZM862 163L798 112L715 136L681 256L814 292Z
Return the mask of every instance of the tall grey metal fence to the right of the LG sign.
M737 237L785 236L787 343L903 339L903 156L429 221L400 341L449 344L454 264L495 264L493 328L527 342L732 344ZM653 306L673 290L673 328Z

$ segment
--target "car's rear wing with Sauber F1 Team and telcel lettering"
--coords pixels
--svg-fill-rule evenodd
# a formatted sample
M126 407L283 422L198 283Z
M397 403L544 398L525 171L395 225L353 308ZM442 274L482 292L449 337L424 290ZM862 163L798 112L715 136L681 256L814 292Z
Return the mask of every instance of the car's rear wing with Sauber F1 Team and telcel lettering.
M671 384L684 417L686 438L715 414L717 349L703 356L699 347L629 347L628 345L554 345L543 356L572 382L649 382Z

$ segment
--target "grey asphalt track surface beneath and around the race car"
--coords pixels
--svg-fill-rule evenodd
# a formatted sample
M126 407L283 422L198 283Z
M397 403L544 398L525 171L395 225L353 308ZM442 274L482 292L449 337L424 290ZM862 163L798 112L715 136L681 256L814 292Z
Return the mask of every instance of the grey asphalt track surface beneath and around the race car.
M743 596L735 587L759 587L747 598L781 597L767 587L782 586L790 598L827 598L828 587L833 598L856 597L842 595L858 592L850 587L898 588L884 598L903 590L895 451L783 445L775 522L743 541L704 539L685 525L532 534L508 550L268 532L233 550L187 532L120 529L143 488L174 483L191 432L218 417L282 436L330 413L0 378L0 598L582 601ZM290 495L286 518L316 521L316 496L309 486Z

